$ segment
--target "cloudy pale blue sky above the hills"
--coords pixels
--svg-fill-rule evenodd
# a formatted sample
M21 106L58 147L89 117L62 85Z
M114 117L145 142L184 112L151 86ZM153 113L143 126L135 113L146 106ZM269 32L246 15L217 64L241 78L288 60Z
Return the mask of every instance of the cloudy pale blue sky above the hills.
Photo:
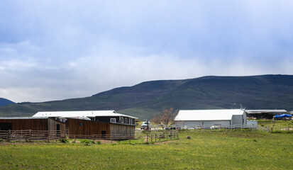
M0 97L159 79L293 74L293 1L0 1Z

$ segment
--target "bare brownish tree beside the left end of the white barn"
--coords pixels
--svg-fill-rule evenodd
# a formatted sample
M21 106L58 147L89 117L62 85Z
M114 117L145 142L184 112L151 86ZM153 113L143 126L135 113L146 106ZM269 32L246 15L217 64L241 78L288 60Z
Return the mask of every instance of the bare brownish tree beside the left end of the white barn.
M160 125L169 125L174 123L174 118L178 111L174 111L174 108L164 108L160 114L155 114L152 118L152 122Z

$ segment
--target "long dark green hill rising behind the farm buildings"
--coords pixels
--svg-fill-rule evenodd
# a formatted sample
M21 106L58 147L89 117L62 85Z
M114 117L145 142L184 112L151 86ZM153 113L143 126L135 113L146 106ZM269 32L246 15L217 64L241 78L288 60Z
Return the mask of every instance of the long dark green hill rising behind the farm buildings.
M236 104L235 104L236 103ZM293 76L199 77L146 81L104 91L87 98L0 107L0 116L33 115L38 111L116 110L151 118L162 108L239 108L293 110Z

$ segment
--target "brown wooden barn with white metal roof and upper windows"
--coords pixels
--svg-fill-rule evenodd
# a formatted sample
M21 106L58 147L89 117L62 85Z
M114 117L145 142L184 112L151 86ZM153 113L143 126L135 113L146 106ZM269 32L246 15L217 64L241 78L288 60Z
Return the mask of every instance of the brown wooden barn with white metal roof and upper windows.
M125 138L135 135L136 117L115 111L38 112L33 117L48 116L66 123L68 135L103 135Z

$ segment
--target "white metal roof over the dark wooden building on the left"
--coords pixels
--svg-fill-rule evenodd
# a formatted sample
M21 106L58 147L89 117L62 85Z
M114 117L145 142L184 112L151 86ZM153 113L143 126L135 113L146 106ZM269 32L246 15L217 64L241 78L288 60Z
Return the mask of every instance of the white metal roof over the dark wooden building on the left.
M136 117L130 115L123 115L121 113L116 113L115 111L50 111L50 112L38 112L33 115L33 117L48 116L48 117L58 117L58 118L93 118L96 116L123 116L128 118Z

